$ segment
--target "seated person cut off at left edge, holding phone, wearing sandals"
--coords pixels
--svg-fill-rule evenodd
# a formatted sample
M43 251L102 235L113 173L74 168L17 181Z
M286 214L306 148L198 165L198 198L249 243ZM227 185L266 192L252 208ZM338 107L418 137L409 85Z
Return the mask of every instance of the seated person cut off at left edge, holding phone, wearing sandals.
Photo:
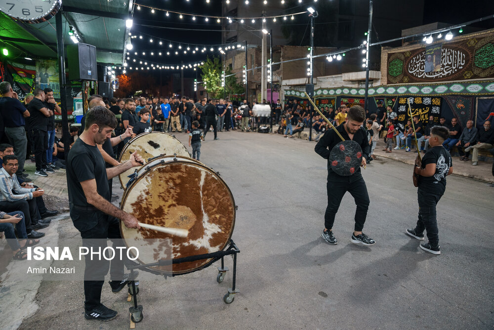
M15 236L14 226L19 239ZM10 213L0 212L0 232L5 233L7 244L16 260L26 260L27 254L23 250L40 243L40 240L28 239L24 213L21 211Z

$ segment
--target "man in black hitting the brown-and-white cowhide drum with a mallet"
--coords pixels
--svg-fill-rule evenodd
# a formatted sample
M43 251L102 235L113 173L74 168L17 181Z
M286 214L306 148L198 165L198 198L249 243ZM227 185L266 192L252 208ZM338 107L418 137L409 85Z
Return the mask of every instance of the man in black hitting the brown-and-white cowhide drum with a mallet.
M106 239L115 239L114 248L122 246L117 243L121 239L118 219L128 228L140 228L134 216L109 202L111 195L108 179L131 167L140 166L142 162L142 158L134 152L129 161L105 168L105 162L96 145L111 138L116 126L117 120L111 111L102 106L92 108L86 114L84 132L70 149L67 158L70 216L74 226L81 232L82 245L88 248L106 246ZM84 271L84 317L87 320L112 320L117 312L100 302L104 276L110 268L110 262L105 259L92 261L89 257L86 255ZM124 263L116 259L112 260L110 271L113 292L119 292L127 284Z

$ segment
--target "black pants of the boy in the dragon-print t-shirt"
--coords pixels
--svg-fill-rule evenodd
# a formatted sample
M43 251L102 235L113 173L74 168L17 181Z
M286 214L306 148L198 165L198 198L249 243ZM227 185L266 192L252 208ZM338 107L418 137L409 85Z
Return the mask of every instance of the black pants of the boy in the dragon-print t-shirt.
M437 228L436 219L436 205L443 197L444 190L442 192L432 193L430 191L417 189L418 196L418 220L415 231L417 233L423 233L427 231L427 238L429 243L433 247L439 245L439 230Z

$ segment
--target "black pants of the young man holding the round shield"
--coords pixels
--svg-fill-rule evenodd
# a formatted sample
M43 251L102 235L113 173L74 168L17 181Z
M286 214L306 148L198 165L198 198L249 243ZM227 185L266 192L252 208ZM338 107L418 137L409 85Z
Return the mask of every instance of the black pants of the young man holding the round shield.
M360 176L360 175L359 175ZM357 210L355 212L355 228L356 232L362 231L367 218L367 210L369 209L369 193L367 192L366 182L364 178L348 177L346 182L329 181L328 189L328 207L324 213L324 226L330 230L333 228L334 217L340 206L343 195L348 191L355 199Z

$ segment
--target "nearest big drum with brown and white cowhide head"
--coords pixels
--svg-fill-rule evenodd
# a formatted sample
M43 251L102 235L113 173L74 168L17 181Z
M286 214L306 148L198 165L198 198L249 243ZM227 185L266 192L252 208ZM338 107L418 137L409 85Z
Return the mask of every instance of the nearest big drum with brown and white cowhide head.
M141 264L222 250L235 225L235 201L226 183L209 167L187 157L158 157L139 168L137 179L124 192L121 208L139 222L189 231L182 238L150 229L129 229L121 223L127 247L140 246ZM152 239L171 241L171 251L166 244L148 243ZM187 274L212 261L197 260L150 270L165 275Z

